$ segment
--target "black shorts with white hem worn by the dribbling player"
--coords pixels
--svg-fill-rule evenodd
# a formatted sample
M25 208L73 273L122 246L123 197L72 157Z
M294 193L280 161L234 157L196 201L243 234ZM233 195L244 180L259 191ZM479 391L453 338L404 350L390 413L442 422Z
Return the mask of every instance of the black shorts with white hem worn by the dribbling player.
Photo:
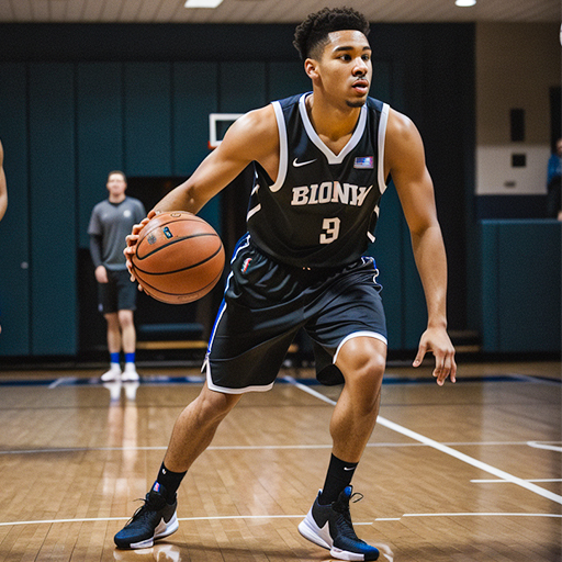
M203 363L209 387L227 394L270 390L300 328L313 340L317 371L335 362L351 337L386 344L376 276L372 258L339 270L284 266L246 235L235 250Z

